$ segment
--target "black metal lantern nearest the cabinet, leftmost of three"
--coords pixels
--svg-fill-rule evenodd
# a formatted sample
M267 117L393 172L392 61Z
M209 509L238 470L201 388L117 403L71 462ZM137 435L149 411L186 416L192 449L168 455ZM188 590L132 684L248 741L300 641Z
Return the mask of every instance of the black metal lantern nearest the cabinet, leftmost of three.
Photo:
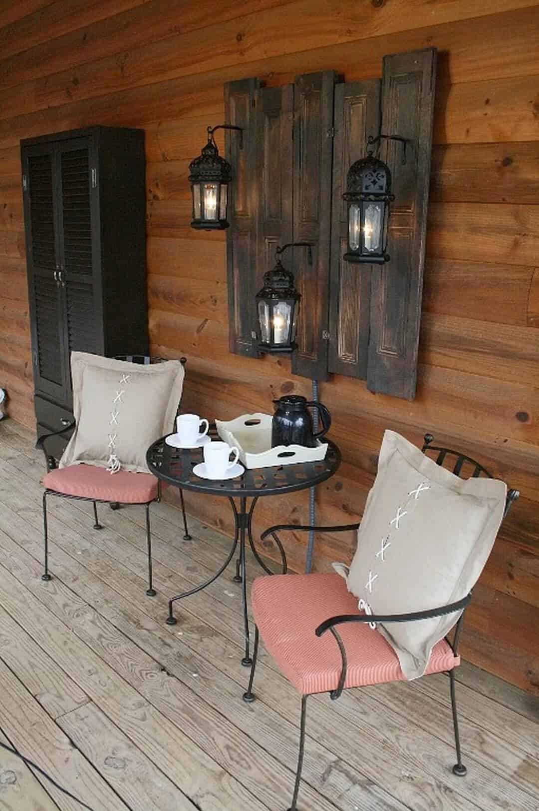
M213 137L216 130L238 130L240 138L242 136L242 128L230 124L207 127L207 144L203 146L199 157L195 157L189 165L189 180L193 195L191 228L223 230L229 227L226 210L232 166L224 157L220 157ZM241 140L240 148L242 148Z

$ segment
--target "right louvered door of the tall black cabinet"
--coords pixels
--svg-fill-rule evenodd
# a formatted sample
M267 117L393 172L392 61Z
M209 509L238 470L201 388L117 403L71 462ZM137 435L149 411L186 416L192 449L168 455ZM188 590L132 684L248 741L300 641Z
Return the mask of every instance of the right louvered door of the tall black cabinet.
M92 169L91 156L90 139L77 138L58 145L61 287L68 373L72 351L102 352L96 327L100 323L94 277L99 228L96 227L96 200L92 200L92 191L96 191L96 169ZM71 385L68 388L71 391Z

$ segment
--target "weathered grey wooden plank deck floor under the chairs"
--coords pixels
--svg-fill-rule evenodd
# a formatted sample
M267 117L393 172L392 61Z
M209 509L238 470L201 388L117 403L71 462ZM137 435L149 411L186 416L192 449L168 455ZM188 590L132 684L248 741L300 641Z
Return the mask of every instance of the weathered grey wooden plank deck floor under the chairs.
M284 811L299 700L261 650L242 702L241 599L233 567L207 590L167 599L215 571L224 535L152 506L155 598L144 594L142 508L49 499L41 581L41 453L0 423L0 740L94 811ZM228 508L225 504L224 509ZM250 563L250 577L257 572ZM464 663L458 673L468 777L454 762L447 676L311 699L302 811L539 811L539 703ZM79 811L0 749L0 809Z

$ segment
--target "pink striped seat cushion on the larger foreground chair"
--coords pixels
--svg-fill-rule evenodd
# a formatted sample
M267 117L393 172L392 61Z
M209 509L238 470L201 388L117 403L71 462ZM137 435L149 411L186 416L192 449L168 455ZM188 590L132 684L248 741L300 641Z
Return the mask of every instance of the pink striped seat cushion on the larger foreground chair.
M339 574L277 574L258 577L252 586L255 622L280 670L306 695L336 689L341 659L335 637L314 629L338 614L361 614L357 597L349 593ZM361 687L404 680L399 659L382 634L362 623L338 626L346 647L345 687ZM451 670L460 664L445 640L430 655L426 673Z

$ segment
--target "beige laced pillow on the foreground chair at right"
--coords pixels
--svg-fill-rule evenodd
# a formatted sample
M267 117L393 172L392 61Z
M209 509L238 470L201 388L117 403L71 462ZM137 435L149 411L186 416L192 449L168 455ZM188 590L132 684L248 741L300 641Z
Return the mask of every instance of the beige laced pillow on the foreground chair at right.
M352 565L333 565L367 613L404 614L454 603L473 588L486 564L506 490L497 479L459 478L386 431ZM378 630L396 651L404 676L416 679L459 616L379 624Z

